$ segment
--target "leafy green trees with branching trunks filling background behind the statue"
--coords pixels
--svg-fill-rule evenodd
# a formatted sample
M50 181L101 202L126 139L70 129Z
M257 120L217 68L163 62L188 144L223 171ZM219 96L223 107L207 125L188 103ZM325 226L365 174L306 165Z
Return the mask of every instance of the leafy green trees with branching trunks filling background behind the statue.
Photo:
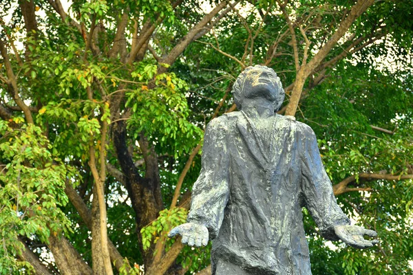
M280 113L315 130L343 208L389 243L328 249L306 215L313 272L410 272L411 4L2 3L1 272L207 267L209 248L166 234L186 217L205 124L235 109L253 64L282 78ZM374 65L389 52L396 70Z

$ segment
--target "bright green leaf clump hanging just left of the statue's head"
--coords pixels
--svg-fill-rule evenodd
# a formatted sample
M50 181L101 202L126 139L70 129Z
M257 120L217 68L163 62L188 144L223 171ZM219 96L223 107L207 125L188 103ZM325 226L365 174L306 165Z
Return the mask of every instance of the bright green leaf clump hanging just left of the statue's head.
M178 157L189 153L198 144L202 131L187 120L189 107L184 92L188 86L174 73L156 74L156 65L136 66L131 76L146 85L127 92L126 106L133 114L128 121L129 129L137 138L142 131L156 143L162 151ZM149 89L147 85L156 85Z

